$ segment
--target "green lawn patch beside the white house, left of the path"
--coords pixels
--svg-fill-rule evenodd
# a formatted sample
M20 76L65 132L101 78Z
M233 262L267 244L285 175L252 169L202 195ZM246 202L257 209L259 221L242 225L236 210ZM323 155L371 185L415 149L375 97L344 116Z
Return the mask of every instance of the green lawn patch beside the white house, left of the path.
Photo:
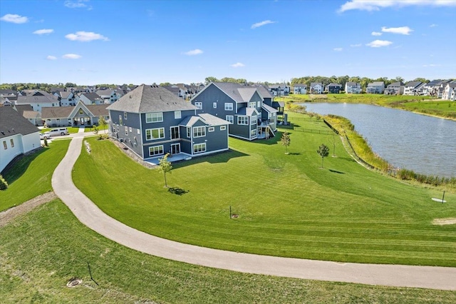
M0 191L0 211L52 191L54 169L68 150L70 141L53 141L48 147L21 158L4 173L9 188Z

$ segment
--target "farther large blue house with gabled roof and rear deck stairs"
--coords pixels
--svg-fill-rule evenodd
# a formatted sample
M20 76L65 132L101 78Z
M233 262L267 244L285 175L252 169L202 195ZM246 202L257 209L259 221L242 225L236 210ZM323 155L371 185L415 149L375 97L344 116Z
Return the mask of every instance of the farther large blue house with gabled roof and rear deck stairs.
M277 110L264 102L263 95L254 86L212 82L190 102L197 107L197 113L209 113L229 121L230 136L251 141L275 135Z

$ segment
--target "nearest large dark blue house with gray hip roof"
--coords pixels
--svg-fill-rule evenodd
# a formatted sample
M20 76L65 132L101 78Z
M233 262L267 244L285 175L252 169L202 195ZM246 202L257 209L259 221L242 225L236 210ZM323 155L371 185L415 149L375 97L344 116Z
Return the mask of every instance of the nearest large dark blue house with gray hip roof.
M161 86L142 84L108 106L110 135L142 159L228 150L228 122Z

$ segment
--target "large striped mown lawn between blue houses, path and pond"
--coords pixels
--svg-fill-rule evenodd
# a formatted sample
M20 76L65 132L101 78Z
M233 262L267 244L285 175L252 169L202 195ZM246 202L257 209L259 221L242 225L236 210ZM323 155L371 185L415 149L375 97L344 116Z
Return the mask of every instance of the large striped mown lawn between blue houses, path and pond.
M301 128L322 121L290 113ZM333 136L289 130L290 155L269 141L229 139L232 151L175 163L163 176L110 141L88 139L73 170L76 186L105 213L163 238L210 248L359 263L456 266L456 194L368 171L336 141L321 169L316 150ZM176 191L175 191L176 192ZM229 218L229 206L239 218Z

